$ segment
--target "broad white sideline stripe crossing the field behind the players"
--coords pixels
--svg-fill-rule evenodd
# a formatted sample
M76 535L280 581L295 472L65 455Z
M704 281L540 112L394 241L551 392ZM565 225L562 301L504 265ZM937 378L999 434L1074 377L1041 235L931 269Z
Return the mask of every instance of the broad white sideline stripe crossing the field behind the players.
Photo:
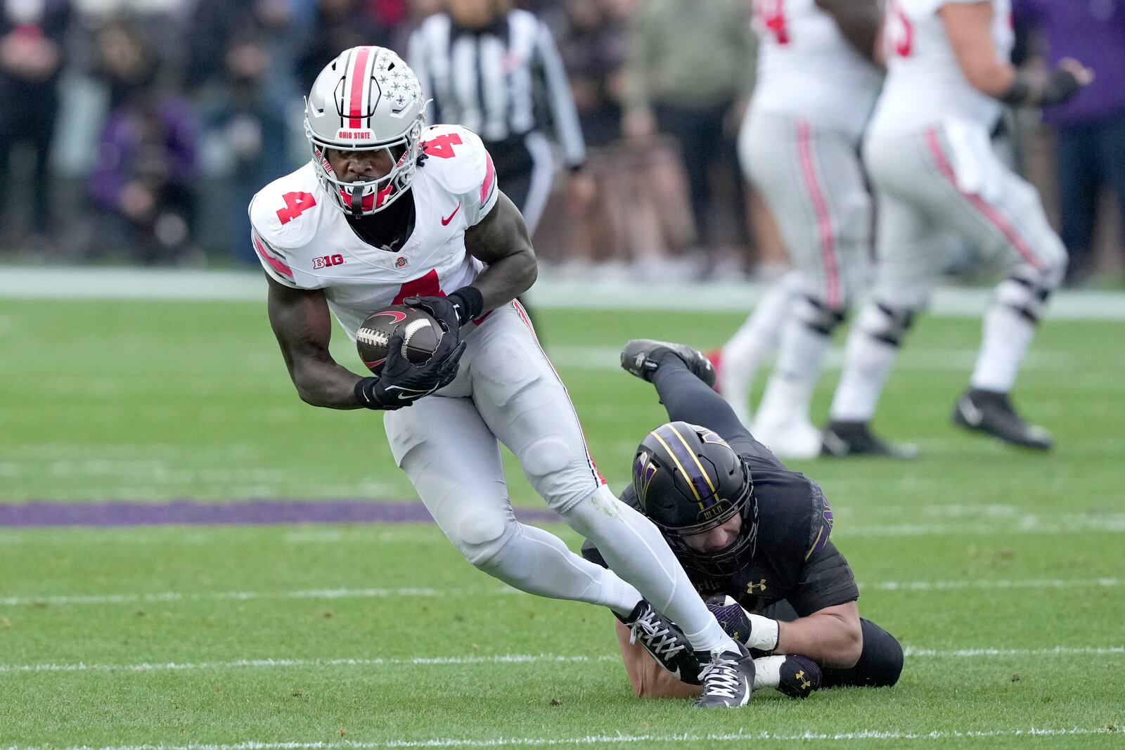
M562 279L550 269L543 269L528 296L532 305L542 308L729 313L753 309L764 290L762 283L737 280L637 284L594 278ZM989 288L944 287L934 295L930 311L946 316L980 316L991 293ZM256 270L0 266L0 298L264 302L266 279ZM1125 320L1125 293L1064 289L1052 297L1047 315L1053 318Z

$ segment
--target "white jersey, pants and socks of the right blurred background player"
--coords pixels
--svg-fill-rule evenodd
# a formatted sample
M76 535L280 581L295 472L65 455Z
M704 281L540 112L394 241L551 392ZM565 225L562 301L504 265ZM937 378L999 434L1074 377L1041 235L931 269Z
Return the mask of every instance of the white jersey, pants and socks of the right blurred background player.
M969 83L938 15L975 2L888 4L888 75L863 150L878 201L875 282L852 328L832 421L873 416L902 334L945 265L944 233L961 235L1008 277L984 318L974 388L1010 391L1040 309L1062 280L1066 253L1035 188L992 151L1001 105ZM1009 0L992 8L992 40L1007 60Z

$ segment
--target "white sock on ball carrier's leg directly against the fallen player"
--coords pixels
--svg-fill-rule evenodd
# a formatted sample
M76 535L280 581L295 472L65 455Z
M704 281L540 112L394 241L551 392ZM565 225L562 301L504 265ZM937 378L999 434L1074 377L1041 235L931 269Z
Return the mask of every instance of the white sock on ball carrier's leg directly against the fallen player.
M652 607L676 623L696 651L734 651L676 555L652 522L619 500L608 487L562 514L592 541L610 568L637 587Z

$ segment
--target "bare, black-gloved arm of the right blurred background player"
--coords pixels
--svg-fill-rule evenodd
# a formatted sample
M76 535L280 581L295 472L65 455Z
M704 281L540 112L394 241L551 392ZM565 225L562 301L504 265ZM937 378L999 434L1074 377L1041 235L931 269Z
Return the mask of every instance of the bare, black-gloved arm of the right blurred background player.
M1001 60L992 43L991 0L947 2L937 12L965 79L993 99L1012 106L1050 107L1073 98L1094 80L1094 73L1077 60L1063 60L1047 74L1017 71Z

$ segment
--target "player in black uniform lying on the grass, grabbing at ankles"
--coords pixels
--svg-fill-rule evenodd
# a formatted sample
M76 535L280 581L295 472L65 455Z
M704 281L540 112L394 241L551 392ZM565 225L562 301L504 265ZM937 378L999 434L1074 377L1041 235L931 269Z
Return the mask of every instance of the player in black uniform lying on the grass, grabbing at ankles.
M700 352L637 340L621 367L656 386L672 419L641 441L621 499L662 530L695 588L713 597L719 622L757 657L754 687L806 697L819 687L894 685L902 647L860 617L820 487L754 440L712 390L714 370ZM605 564L593 544L582 551ZM680 644L666 621L659 633L644 622L616 627L637 695L699 694L637 643Z

